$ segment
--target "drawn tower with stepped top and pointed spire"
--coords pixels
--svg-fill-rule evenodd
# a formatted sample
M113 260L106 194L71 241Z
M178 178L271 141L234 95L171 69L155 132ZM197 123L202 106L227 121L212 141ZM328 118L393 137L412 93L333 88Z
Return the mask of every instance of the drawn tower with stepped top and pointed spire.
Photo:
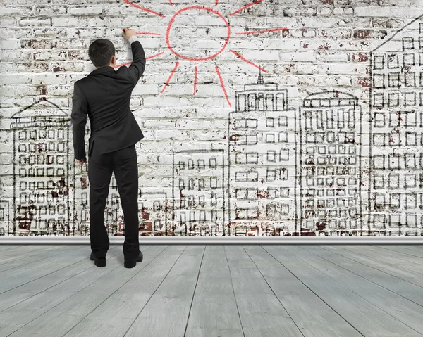
M229 115L231 235L295 231L295 110L278 84L246 84Z

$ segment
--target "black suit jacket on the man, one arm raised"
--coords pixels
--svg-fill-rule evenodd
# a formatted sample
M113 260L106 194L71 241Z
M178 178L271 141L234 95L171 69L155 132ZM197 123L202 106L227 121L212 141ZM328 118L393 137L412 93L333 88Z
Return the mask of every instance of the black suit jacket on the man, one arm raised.
M90 117L88 155L95 143L98 153L121 150L144 138L129 108L130 96L145 69L145 53L139 41L131 45L133 63L118 70L98 68L73 87L73 149L75 159L85 158L85 125Z

